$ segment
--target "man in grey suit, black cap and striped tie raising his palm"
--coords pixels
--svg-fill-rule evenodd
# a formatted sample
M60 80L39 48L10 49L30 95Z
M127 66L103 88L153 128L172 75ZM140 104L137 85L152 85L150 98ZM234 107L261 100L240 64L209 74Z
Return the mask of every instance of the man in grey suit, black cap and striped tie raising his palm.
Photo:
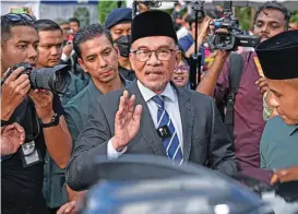
M70 188L86 190L97 181L97 155L152 154L226 175L237 171L231 140L213 99L170 83L180 59L169 14L147 11L133 19L130 62L138 81L91 105L68 166Z

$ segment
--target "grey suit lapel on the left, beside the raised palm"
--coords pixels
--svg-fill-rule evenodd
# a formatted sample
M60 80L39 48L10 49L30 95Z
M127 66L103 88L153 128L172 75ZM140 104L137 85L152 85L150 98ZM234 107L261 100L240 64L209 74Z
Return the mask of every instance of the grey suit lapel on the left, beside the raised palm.
M155 126L152 120L147 104L138 87L136 81L134 81L129 87L129 93L130 95L135 95L135 105L142 105L142 116L140 124L141 135L144 138L145 142L148 143L155 154L166 155L162 139L157 135L155 131Z

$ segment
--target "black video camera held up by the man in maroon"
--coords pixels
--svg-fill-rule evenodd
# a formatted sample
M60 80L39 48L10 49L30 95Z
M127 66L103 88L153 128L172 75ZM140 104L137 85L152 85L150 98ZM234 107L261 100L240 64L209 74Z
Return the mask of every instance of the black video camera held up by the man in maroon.
M207 39L211 49L237 50L239 46L255 47L260 43L259 36L245 35L239 27L239 20L231 17L234 5L233 1L224 1L225 17L214 21L216 32Z

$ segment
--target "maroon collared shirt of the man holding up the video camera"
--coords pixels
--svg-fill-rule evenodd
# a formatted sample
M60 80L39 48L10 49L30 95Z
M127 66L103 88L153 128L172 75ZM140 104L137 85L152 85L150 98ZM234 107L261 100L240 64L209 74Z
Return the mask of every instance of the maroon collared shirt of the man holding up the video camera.
M260 140L265 121L263 120L263 96L255 85L260 79L253 61L253 52L243 52L245 70L241 76L234 106L234 139L236 156L242 169L260 168ZM229 60L218 78L215 99L220 103L228 94Z

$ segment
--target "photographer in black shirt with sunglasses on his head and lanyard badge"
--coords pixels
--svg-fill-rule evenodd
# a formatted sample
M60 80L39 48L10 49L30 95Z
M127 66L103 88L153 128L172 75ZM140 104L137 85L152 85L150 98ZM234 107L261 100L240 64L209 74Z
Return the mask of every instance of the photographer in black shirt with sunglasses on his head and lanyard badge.
M35 67L38 34L26 14L1 16L1 73L20 62ZM65 167L71 155L71 136L63 109L51 92L31 90L28 74L14 70L1 86L1 123L20 123L25 143L2 162L1 213L47 213L41 193L46 150L56 164ZM2 75L2 78L5 75Z

